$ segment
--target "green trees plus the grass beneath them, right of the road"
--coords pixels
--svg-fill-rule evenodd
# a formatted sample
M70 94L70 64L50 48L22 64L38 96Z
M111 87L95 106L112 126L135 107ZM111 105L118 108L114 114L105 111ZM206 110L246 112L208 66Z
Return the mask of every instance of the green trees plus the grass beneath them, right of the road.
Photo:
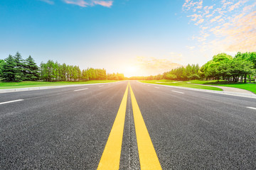
M256 93L256 52L238 52L235 57L220 53L202 67L198 64L188 64L186 67L178 67L164 74L131 79L198 89L205 89L206 86L197 84L228 86Z

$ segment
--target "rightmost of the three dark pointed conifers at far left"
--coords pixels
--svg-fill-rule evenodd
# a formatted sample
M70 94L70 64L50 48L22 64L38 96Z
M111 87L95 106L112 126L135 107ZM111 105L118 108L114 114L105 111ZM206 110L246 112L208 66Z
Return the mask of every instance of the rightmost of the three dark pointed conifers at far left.
M25 60L26 67L26 80L38 80L39 78L39 68L36 65L36 62L29 55L29 57Z

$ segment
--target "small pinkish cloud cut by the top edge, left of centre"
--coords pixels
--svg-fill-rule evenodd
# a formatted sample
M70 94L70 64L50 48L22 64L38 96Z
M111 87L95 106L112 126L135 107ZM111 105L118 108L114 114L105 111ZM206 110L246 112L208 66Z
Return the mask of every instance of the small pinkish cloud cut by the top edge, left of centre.
M113 1L98 1L98 0L91 0L91 1L85 1L85 0L63 0L66 4L74 4L77 6L87 7L87 6L105 6L105 7L111 7L113 4Z

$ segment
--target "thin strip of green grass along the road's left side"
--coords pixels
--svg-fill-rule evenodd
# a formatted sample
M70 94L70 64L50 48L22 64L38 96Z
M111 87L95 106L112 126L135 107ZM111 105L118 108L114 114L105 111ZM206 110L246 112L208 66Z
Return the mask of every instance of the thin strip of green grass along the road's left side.
M111 83L115 80L91 80L91 81L21 81L21 82L0 82L0 89L18 89L37 86L63 86L73 84L96 84L96 83Z

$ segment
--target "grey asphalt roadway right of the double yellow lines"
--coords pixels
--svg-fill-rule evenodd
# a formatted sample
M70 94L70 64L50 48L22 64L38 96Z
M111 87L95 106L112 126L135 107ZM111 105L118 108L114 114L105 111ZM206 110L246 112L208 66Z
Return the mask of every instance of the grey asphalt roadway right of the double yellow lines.
M131 86L163 169L255 169L255 99Z

